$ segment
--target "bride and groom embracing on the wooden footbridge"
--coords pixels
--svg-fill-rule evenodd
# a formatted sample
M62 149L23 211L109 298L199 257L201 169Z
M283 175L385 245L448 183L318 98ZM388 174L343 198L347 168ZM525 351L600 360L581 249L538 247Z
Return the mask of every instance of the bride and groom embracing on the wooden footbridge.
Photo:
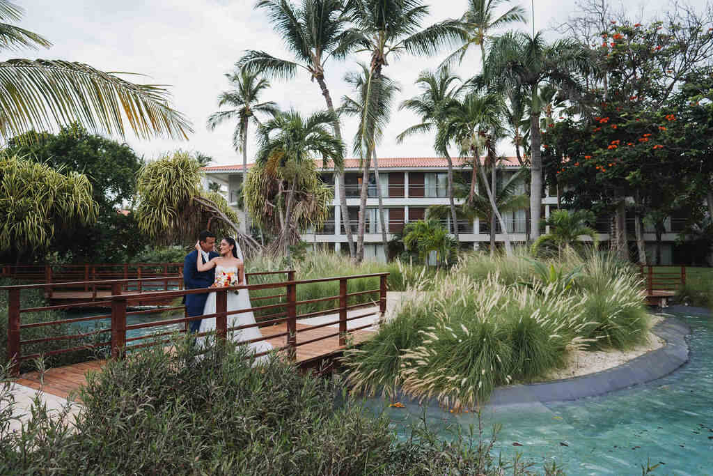
M195 245L195 250L183 260L183 285L185 289L216 288L224 285L245 284L245 264L240 245L233 238L223 238L215 253L215 234L202 231ZM236 279L237 278L237 283ZM230 284L232 281L232 284ZM215 293L189 294L185 296L185 308L188 317L215 313ZM250 295L247 289L239 293L228 291L227 310L250 309ZM251 311L227 316L227 327L255 324L255 315ZM215 318L190 321L191 333L206 333L215 330ZM257 327L230 331L230 340L240 343L246 340L262 338ZM205 345L205 337L196 340L199 348ZM251 353L263 353L272 350L272 345L265 340L248 344ZM262 358L267 358L263 356Z

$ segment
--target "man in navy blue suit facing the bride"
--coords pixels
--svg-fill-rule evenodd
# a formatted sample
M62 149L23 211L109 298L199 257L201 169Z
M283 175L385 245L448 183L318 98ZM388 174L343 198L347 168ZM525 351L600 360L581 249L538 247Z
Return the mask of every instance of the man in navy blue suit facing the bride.
M202 255L203 263L207 263L218 255L213 250L215 248L214 233L201 231L198 243L200 243L200 254ZM198 267L195 265L198 258L197 253L198 250L193 250L183 260L183 288L185 289L209 288L215 280L215 268L211 268L208 271L198 271ZM186 315L188 317L202 315L207 298L207 293L185 295ZM200 319L190 321L189 331L192 333L198 332L200 321Z

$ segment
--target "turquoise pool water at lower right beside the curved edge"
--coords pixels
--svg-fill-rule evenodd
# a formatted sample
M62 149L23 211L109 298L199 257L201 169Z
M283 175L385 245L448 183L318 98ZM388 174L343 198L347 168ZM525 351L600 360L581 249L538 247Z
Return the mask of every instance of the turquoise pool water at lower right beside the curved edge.
M677 315L691 326L690 361L654 382L575 402L518 405L485 410L486 428L501 423L494 453L520 452L537 465L553 460L568 475L640 475L647 458L656 475L713 475L713 318ZM379 409L383 402L368 405ZM406 436L422 409L386 408ZM426 421L443 437L477 419L429 408ZM522 446L513 446L518 443ZM566 445L566 446L565 446Z

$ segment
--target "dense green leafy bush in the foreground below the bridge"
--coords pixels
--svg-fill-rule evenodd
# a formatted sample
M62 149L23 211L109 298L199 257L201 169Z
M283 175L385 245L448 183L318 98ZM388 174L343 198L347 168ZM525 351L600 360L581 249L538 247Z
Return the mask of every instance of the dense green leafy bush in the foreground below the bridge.
M108 363L81 391L75 428L36 405L9 432L9 385L0 368L0 472L15 474L525 474L491 456L495 433L438 440L413 427L396 440L342 393L338 378L301 375L272 358L252 367L245 350L188 340ZM188 363L188 365L186 365Z

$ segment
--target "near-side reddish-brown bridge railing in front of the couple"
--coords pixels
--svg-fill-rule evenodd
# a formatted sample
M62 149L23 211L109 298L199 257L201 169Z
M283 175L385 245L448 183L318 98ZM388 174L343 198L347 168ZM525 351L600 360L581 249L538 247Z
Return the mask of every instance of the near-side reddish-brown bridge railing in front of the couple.
M309 343L314 343L319 340L338 338L339 346L345 345L347 342L348 333L352 333L356 330L361 330L370 327L372 324L360 325L355 328L348 329L347 323L351 320L367 318L374 316L377 313L386 312L386 278L389 273L375 273L367 275L353 275L353 276L342 276L337 278L319 278L312 280L294 280L294 271L278 271L272 273L250 273L252 276L256 275L277 275L277 274L287 273L287 281L275 282L275 283L257 283L248 284L242 286L235 286L231 288L217 288L212 289L211 292L216 293L216 312L213 314L201 315L201 316L191 316L185 315L185 307L183 305L169 305L168 307L161 308L150 308L141 310L131 310L130 303L140 302L142 304L148 303L165 303L165 302L175 302L178 298L183 298L185 295L190 294L200 294L206 293L206 289L178 289L178 290L163 290L152 293L125 293L122 288L125 285L124 280L114 281L111 284L112 293L110 296L103 298L103 300L96 301L93 303L82 303L82 304L66 304L66 305L47 305L37 308L25 308L20 307L20 292L21 290L31 289L31 288L43 288L46 286L51 286L51 284L41 284L41 285L17 285L17 286L5 286L0 288L1 290L6 290L9 293L9 307L8 307L8 356L11 359L11 372L13 375L19 375L20 365L25 360L33 360L39 358L40 356L51 356L58 355L61 353L71 353L81 350L97 350L100 348L111 349L111 356L113 358L121 358L125 355L127 350L134 350L138 348L147 347L150 345L166 345L170 343L170 336L175 332L185 333L188 328L188 323L193 320L200 320L206 318L215 318L215 335L218 339L225 339L227 333L235 332L246 328L252 327L264 327L267 325L279 325L285 324L285 330L282 333L274 333L269 335L263 335L262 338L253 339L247 341L247 343L257 342L261 340L270 340L275 338L284 337L284 345L277 348L277 351L285 351L290 358L295 358L297 353L297 348L302 345L307 345ZM379 279L379 287L374 289L359 290L356 292L349 293L349 281L353 280L374 280ZM143 281L151 280L162 280L165 278L147 278ZM314 285L315 283L328 283L334 282L339 283L339 294L332 296L325 296L322 298L315 299L304 299L297 300L297 287L301 285ZM270 300L270 304L264 305L252 305L249 309L239 309L239 310L227 310L227 293L232 290L247 290L251 293L259 293L262 290L270 290L268 295L255 295L252 297L252 301L258 300ZM272 290L284 289L284 293L275 293ZM262 294L262 293L260 293ZM369 296L373 296L369 298ZM312 312L304 312L299 314L298 309L304 308L306 305L314 305L316 303L328 303L337 302L334 308L328 308L323 310L317 310ZM352 301L352 303L350 303ZM356 301L356 302L355 302ZM369 313L364 313L356 316L347 318L347 312L349 310L371 307L374 305L379 305L379 311L372 311ZM106 305L111 307L111 313L102 313L101 315L93 315L88 317L79 318L68 318L63 320L49 320L46 322L36 322L36 323L22 323L21 316L23 313L30 312L41 312L47 310L63 310L68 308L86 308L86 307L96 307L98 305ZM183 310L183 315L180 318L167 317L168 313L178 312ZM240 315L242 313L247 313L252 311L253 313L260 314L260 320L256 323L247 325L228 325L230 316ZM268 314L265 314L265 313ZM314 325L302 325L300 328L297 327L298 320L304 320L307 318L314 318L322 315L330 315L338 313L339 318L335 320L330 320L327 323L317 323ZM158 320L150 320L138 323L128 323L128 318L146 318L150 315L159 315ZM21 340L21 331L23 329L38 328L48 325L61 325L61 324L73 324L73 323L86 323L89 321L99 321L103 323L98 325L89 332L83 332L73 335L53 335L51 337L40 337L34 339ZM108 327L106 327L108 325ZM325 328L329 325L338 325L338 331L334 333L328 333L327 335L317 335L317 337L308 336L307 340L301 340L298 342L297 335L299 333L309 332L318 328ZM178 326L178 327L177 327ZM150 332L153 330L154 332ZM133 335L129 337L127 335L130 331L138 331L138 333L143 333L140 335ZM148 332L148 333L147 333ZM103 335L110 334L111 338L103 340L101 339ZM208 335L210 333L197 333L197 337L202 335ZM70 348L53 348L51 350L41 350L40 346L43 344L56 343L58 341L70 341L72 339L93 339L93 343L83 343L82 345L76 345ZM145 342L140 342L141 340L148 340ZM56 345L56 344L55 344ZM23 349L31 348L31 353L23 353ZM257 356L264 355L257 354Z

